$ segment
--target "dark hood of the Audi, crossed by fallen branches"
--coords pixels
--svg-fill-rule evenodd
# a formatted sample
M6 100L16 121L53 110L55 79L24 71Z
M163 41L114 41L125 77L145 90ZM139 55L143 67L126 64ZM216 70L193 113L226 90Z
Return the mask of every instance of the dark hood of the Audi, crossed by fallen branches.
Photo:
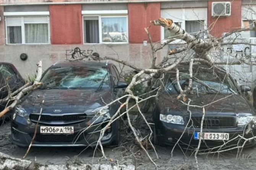
M187 106L177 99L177 95L163 94L160 99L160 109L166 112L166 110L172 111L186 111ZM185 103L188 103L188 99L191 99L190 105L204 106L206 111L212 112L228 112L228 113L254 113L252 106L248 101L238 94L196 94L186 95ZM164 109L164 110L163 110ZM200 111L202 108L190 107L191 111Z

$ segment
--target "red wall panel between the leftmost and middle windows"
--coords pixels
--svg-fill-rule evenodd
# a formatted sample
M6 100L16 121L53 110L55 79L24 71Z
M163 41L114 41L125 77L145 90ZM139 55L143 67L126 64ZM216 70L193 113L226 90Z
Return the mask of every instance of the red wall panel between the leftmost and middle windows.
M52 44L83 44L82 5L49 5Z

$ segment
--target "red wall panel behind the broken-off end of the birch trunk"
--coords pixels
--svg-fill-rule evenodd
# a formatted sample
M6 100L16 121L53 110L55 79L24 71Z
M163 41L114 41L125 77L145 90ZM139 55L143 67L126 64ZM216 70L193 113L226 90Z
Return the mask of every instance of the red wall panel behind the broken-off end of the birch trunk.
M129 43L142 43L148 40L145 27L150 21L160 18L160 3L128 3ZM160 26L149 28L152 41L160 41Z

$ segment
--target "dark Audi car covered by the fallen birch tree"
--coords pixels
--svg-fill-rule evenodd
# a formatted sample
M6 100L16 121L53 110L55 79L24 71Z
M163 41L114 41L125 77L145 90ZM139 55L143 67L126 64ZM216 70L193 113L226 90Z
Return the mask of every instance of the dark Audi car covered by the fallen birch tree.
M188 65L180 66L179 69L180 86L186 89L190 78ZM185 103L191 99L190 105L205 105L202 147L221 146L230 140L222 148L242 145L244 140L241 138L232 139L238 135L245 138L256 135L254 108L241 95L241 89L250 88L238 87L232 77L219 67L194 65L192 79L192 90L186 95ZM153 110L154 143L173 145L180 139L179 145L197 147L203 108L190 106L188 109L187 105L177 100L180 91L175 70L164 75L164 89L156 99ZM249 140L246 146L254 144L255 140Z

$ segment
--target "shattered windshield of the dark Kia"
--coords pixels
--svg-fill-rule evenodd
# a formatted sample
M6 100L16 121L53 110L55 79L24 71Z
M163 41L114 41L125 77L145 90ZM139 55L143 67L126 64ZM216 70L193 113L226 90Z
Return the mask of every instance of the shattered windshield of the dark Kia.
M104 88L109 87L109 73L106 68L53 67L41 82L47 89Z

